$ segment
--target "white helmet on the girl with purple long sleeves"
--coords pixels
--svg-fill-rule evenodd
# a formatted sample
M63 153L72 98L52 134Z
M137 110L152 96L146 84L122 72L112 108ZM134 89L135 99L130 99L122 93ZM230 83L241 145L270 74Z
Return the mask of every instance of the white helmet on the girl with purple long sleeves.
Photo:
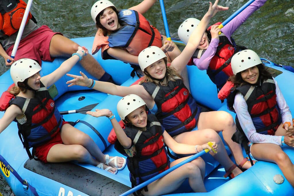
M189 37L193 30L198 26L200 20L196 18L188 18L179 26L178 36L185 43L188 43Z

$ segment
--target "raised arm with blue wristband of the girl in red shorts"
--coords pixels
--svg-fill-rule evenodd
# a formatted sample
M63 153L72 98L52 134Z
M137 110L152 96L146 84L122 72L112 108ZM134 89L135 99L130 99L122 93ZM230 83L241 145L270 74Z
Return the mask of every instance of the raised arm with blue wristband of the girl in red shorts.
M80 60L80 57L88 54L88 49L84 46L78 46L77 54L73 55L69 59L65 60L57 69L54 70L51 74L41 77L42 83L49 87L64 76L67 72L71 70L72 67Z

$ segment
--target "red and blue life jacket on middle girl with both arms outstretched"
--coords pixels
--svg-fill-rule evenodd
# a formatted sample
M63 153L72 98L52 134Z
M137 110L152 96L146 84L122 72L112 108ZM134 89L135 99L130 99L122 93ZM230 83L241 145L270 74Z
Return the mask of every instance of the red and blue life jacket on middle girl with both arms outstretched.
M152 82L141 85L153 97L158 108L155 115L172 137L196 127L201 108L182 79L170 80L166 86Z

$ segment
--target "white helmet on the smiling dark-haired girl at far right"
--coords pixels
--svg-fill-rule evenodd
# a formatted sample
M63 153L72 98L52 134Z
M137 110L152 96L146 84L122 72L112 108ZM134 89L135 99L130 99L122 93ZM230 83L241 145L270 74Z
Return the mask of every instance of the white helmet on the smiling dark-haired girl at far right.
M234 54L231 60L231 67L234 75L259 64L262 64L259 56L253 50L248 49Z

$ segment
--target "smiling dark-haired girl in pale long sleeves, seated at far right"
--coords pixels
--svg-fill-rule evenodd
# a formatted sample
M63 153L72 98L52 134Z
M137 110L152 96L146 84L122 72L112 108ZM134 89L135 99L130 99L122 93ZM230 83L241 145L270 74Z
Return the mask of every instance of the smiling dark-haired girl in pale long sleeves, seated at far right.
M280 147L294 147L292 114L277 81L252 50L235 54L232 70L230 89L222 89L230 94L220 93L228 95L228 107L237 114L234 140L250 142L253 157L275 162L294 187L294 165Z

